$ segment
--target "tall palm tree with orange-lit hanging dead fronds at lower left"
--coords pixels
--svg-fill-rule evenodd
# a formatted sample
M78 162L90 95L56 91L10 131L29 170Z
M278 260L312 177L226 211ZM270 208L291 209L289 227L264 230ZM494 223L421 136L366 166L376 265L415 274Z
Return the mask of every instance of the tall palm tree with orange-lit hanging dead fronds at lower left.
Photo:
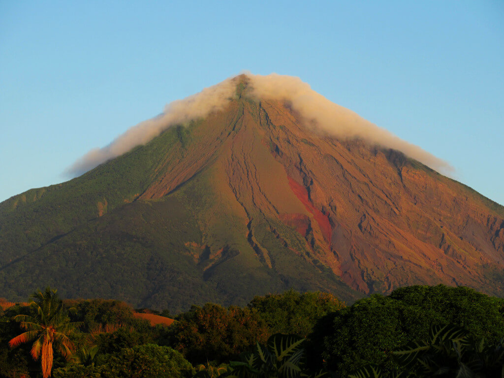
M30 302L32 316L14 317L14 320L20 322L20 327L27 332L9 341L9 346L14 348L19 344L35 340L31 355L35 360L42 356L42 376L47 378L51 375L53 348L56 348L67 360L70 359L74 344L67 335L79 323L70 322L68 310L63 307L63 302L58 298L56 290L47 287L44 292L37 291L31 297L35 298Z

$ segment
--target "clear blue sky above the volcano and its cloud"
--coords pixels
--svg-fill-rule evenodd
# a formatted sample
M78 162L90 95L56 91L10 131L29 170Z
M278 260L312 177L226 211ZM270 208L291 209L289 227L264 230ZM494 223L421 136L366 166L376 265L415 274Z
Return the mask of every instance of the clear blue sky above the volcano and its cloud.
M0 201L242 70L298 76L504 204L504 2L0 2Z

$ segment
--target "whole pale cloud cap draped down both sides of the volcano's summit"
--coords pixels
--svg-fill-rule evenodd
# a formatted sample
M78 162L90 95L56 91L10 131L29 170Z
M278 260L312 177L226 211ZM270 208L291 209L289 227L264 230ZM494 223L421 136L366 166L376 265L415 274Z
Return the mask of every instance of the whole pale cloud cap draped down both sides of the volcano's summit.
M361 138L371 144L402 151L407 156L444 173L453 171L446 161L400 139L357 113L329 101L299 78L277 74L245 75L249 79L248 96L288 101L304 119L305 127L313 132L337 138ZM229 78L193 96L171 102L159 116L133 126L109 145L89 151L65 173L78 176L136 146L148 143L172 125L224 109L236 96L236 82L236 78Z

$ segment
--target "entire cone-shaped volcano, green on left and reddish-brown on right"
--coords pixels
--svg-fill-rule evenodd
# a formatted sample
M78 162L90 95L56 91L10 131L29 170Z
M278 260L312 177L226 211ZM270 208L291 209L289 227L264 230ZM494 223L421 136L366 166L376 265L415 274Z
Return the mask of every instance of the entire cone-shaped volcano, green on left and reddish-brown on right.
M241 89L240 89L241 88ZM204 119L0 204L0 292L179 311L411 284L502 295L504 208L401 152L307 131L279 100Z

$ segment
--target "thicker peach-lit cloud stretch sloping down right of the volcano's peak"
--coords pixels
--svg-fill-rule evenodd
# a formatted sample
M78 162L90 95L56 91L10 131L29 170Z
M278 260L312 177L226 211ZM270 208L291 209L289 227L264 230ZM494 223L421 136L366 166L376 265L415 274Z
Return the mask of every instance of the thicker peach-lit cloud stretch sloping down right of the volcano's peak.
M305 126L316 132L337 138L360 138L371 144L402 151L407 156L444 173L454 170L448 162L400 139L357 113L329 101L299 78L277 74L247 76L253 87L253 97L288 101L292 109L304 118Z

